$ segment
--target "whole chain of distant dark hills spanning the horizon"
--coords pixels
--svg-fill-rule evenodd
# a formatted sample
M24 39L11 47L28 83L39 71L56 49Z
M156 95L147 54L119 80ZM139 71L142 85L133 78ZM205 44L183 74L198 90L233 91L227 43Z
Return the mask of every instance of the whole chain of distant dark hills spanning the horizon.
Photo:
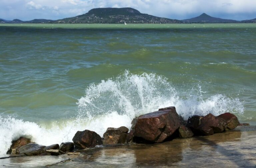
M237 21L216 18L203 13L194 18L177 20L144 14L134 8L94 8L85 14L58 20L33 19L22 21L14 19L9 21L0 19L0 23L256 23L256 18Z

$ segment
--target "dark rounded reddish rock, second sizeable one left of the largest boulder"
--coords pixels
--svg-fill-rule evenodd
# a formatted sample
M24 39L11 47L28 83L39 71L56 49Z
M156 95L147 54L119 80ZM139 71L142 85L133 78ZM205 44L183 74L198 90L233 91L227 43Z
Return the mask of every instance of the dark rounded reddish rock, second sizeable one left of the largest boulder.
M79 149L95 147L96 145L103 144L100 135L90 130L77 131L72 140Z

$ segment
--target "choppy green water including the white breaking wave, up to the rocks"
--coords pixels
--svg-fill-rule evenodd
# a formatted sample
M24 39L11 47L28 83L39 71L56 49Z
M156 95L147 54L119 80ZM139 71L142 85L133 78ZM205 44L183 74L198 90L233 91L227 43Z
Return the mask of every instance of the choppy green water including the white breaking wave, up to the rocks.
M256 24L1 24L0 153L176 106L256 123Z

